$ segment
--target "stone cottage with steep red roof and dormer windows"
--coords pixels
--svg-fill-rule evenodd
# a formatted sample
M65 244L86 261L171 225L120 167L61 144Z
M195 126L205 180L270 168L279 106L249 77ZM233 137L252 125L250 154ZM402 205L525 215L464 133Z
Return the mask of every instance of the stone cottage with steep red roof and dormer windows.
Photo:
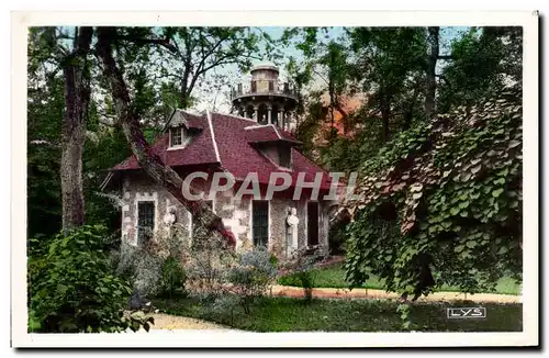
M273 87L266 88L272 94ZM254 101L261 100L260 93L255 94ZM277 100L281 109L277 113L281 113L284 99ZM273 108L262 104L259 108ZM202 199L236 236L237 248L265 246L279 257L316 245L327 249L332 202L325 199L330 199L333 189L328 172L300 153L300 143L283 128L289 127L288 118L273 121L269 112L267 122L258 123L257 113L250 116L177 110L152 149L186 182L203 190ZM135 157L116 165L111 174L111 184L117 183L124 201L123 240L142 245L147 239L143 233L173 223L192 239L190 212L154 183ZM234 182L220 182L216 174Z

